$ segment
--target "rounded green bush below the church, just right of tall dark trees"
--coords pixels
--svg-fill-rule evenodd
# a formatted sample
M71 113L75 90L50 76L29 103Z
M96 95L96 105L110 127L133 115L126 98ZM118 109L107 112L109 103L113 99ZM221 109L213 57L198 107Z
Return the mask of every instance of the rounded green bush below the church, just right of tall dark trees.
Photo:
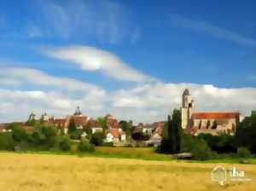
M211 149L203 139L195 139L191 153L192 159L206 160L211 156Z

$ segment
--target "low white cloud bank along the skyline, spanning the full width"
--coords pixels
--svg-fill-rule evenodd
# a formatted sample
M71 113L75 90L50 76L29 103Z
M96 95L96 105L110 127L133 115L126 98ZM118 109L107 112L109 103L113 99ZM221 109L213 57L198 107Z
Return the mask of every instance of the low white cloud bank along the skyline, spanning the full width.
M183 90L189 88L196 111L239 111L247 115L256 108L256 88L222 89L202 84L145 84L130 90L84 93L75 98L56 91L0 90L0 121L25 120L29 113L55 116L73 113L80 106L90 117L112 113L135 123L166 119L181 106ZM19 106L19 107L17 107Z

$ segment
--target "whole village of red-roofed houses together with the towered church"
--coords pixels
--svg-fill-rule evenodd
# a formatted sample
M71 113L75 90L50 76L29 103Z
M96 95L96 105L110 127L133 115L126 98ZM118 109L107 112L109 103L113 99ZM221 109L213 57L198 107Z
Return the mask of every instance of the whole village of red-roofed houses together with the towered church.
M238 112L195 112L195 101L186 89L181 97L181 128L191 136L199 134L211 134L218 136L224 133L234 136L236 125L242 117ZM55 119L43 113L37 116L31 113L26 122L14 122L20 124L24 130L30 130L34 124L54 125L59 132L67 134L71 124L75 126L76 136L74 140L89 138L96 133L102 135L105 145L114 147L158 147L162 141L162 132L166 121L157 121L152 124L133 124L132 121L118 120L111 114L92 119L84 115L79 107L73 114L61 119ZM11 131L9 124L0 124L0 132Z

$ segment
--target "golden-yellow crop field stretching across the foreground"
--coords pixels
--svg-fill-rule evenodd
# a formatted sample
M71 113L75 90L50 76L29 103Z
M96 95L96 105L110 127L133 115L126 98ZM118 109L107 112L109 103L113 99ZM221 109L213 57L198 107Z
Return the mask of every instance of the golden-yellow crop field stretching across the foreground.
M217 164L142 159L108 159L72 155L0 153L2 191L80 190L256 190L256 165L230 165L251 182L212 182Z

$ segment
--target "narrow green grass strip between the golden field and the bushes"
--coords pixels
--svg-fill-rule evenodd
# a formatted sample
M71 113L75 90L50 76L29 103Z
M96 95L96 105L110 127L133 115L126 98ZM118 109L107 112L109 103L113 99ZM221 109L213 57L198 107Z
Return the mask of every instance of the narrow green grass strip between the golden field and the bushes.
M1 151L0 151L1 153ZM55 155L77 155L79 157L100 157L100 158L115 158L115 159L143 159L143 160L157 160L157 161L170 161L187 163L227 163L227 164L251 164L256 165L256 158L241 159L228 156L224 154L222 159L208 159L205 161L200 160L180 160L175 159L170 154L155 153L154 148L113 148L113 147L96 147L96 152L81 153L78 151L77 144L72 145L72 150L69 152L61 151L39 151L31 150L19 153L35 153L35 154L55 154Z

